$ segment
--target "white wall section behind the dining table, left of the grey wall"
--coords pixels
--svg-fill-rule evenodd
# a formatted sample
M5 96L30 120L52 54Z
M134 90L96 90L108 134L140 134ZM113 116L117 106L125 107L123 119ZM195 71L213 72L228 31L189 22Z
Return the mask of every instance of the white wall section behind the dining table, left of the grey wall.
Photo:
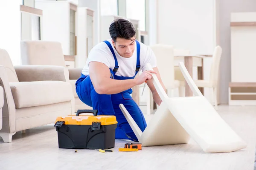
M215 0L158 0L157 43L190 50L191 54L213 54L216 45ZM204 59L204 79L209 80L211 58ZM197 69L193 78L197 79ZM211 100L211 92L204 95Z

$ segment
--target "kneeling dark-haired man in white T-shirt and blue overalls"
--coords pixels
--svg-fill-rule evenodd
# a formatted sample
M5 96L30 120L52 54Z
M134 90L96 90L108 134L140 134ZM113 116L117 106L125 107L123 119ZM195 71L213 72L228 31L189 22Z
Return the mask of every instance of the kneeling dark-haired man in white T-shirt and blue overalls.
M116 116L116 139L138 141L119 104L125 106L144 131L147 125L143 113L131 98L131 88L146 81L154 101L160 105L162 101L151 80L152 74L156 74L163 83L153 51L136 40L136 30L129 21L113 21L109 33L111 40L100 42L90 51L87 65L76 82L76 93L82 102L98 110L98 115ZM151 63L154 71L146 71L146 63ZM140 70L143 73L135 78Z

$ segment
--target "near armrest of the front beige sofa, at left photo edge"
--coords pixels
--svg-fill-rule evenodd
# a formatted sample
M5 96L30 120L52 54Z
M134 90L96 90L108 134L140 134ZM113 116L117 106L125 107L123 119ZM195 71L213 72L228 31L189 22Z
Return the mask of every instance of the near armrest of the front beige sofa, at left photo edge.
M12 96L12 91L9 85L9 80L6 74L6 69L0 65L0 86L3 88L4 104L2 108L3 127L0 132L13 133L15 132L15 102Z

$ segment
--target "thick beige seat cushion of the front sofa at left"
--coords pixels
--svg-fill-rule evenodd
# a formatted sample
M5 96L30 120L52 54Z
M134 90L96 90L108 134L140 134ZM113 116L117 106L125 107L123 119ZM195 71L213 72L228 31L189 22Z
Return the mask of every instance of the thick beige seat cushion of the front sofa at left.
M16 108L67 102L74 98L68 82L12 82L10 87Z

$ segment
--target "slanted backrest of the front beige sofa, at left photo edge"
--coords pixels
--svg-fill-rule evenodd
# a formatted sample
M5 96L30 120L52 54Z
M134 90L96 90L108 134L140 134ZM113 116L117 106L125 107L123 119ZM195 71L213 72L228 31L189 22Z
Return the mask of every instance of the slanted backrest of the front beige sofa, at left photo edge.
M8 52L3 49L0 49L0 65L3 65L5 68L9 82L19 82L12 60Z

